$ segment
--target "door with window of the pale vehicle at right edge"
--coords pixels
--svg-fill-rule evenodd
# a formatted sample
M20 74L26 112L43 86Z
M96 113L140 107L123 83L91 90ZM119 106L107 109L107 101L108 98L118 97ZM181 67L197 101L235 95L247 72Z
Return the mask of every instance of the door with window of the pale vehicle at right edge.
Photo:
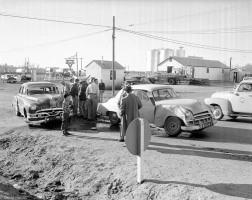
M252 88L252 84L249 84ZM242 83L231 96L231 104L234 112L252 113L252 90L245 90L248 83Z

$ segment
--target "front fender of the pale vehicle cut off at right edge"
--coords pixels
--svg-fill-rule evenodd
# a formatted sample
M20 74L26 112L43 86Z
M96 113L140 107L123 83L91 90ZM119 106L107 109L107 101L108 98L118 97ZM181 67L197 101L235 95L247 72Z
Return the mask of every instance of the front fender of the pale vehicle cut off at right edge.
M232 105L228 99L206 98L205 104L211 105L211 106L215 106L215 105L220 106L223 115L230 115L232 113Z

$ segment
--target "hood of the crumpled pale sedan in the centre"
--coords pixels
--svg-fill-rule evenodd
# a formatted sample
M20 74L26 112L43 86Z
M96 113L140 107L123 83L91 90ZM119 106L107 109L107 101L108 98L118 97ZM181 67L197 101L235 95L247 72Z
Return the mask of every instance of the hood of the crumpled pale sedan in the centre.
M193 114L197 114L205 111L202 104L196 99L172 99L172 100L162 100L156 102L156 105L161 105L163 107L169 108L172 105L181 106L190 110Z

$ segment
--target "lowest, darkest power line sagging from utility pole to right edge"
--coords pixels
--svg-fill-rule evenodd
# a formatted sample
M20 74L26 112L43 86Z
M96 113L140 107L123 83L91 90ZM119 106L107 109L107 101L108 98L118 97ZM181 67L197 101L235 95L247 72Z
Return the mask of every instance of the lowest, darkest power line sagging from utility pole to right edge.
M131 31L131 30L126 30L126 29L121 29L121 28L116 28L116 29L119 30L119 31L128 32L128 33L131 33L131 34L135 34L135 35L139 35L139 36L143 36L143 37L147 37L147 38L151 38L151 39L156 39L156 40L160 40L160 41L164 41L164 42L184 45L184 46L190 46L190 47L196 47L196 48L202 48L202 49L209 49L209 50L216 50L216 51L252 53L252 50L229 49L229 48L208 46L208 45L202 45L202 44L196 44L196 43L190 43L190 42L184 42L184 41L179 41L179 40L163 38L163 37L159 37L159 36L155 36L155 35L144 34L144 33Z

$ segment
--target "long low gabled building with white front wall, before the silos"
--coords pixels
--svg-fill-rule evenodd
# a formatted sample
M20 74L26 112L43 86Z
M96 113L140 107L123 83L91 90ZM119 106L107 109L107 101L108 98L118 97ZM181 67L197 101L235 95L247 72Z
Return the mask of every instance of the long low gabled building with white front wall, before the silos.
M200 57L171 56L158 64L158 71L218 81L228 81L230 75L230 68L227 65Z

